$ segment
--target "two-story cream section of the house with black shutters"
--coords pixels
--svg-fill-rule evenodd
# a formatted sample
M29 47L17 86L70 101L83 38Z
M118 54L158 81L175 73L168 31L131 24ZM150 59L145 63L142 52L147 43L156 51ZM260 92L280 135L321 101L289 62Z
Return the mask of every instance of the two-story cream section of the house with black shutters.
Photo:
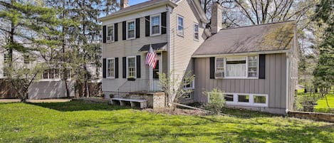
M100 18L106 95L140 85L147 91L160 90L157 72L172 70L175 77L182 77L193 69L191 55L207 38L204 28L209 23L199 1L153 0L127 6L122 0L120 5L119 11ZM150 46L159 57L155 69L145 65Z

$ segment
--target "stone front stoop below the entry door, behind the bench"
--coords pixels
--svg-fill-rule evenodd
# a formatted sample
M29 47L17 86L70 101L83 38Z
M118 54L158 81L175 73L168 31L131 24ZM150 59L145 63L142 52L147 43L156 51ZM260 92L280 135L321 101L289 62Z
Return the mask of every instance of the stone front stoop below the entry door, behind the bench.
M147 107L153 109L165 107L166 104L165 92L131 92L123 97L137 100L147 100Z

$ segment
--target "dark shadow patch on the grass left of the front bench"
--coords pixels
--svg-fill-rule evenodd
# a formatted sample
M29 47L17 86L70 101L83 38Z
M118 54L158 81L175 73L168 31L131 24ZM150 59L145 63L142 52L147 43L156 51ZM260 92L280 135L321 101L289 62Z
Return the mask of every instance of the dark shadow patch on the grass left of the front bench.
M83 110L110 111L110 110L124 110L128 108L128 107L108 105L108 103L93 103L93 102L84 102L80 100L72 100L70 102L50 102L50 103L43 102L43 103L28 103L28 104L40 107L46 107L61 112L83 111Z

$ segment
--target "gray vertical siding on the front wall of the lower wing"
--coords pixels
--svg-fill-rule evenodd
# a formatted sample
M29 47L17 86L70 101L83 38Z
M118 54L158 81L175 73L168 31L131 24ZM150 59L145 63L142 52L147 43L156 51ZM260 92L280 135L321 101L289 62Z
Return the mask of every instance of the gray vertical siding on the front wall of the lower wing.
M285 105L282 101L285 98L283 97L283 95L285 96L283 93L286 90L286 80L283 72L286 70L284 67L286 66L284 57L285 54L283 53L266 55L266 79L209 79L209 58L196 58L195 73L197 77L205 76L205 78L198 79L197 83L204 85L202 87L195 85L195 88L205 87L206 90L211 90L214 86L218 86L225 92L266 94L268 95L268 107L285 109L285 107L282 106ZM277 68L276 65L278 66ZM216 81L214 82L214 80ZM276 85L277 80L281 80L279 82L281 85ZM280 92L276 92L278 90L280 90ZM197 96L201 97L202 95ZM199 100L199 102L205 101Z

